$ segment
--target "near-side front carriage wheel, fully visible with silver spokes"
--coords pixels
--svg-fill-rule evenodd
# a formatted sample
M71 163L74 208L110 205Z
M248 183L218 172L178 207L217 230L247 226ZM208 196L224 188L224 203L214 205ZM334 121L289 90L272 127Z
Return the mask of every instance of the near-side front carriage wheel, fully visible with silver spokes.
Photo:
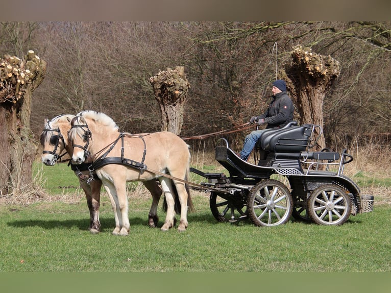
M247 210L256 226L285 224L292 214L292 208L292 196L278 180L263 180L250 189Z

